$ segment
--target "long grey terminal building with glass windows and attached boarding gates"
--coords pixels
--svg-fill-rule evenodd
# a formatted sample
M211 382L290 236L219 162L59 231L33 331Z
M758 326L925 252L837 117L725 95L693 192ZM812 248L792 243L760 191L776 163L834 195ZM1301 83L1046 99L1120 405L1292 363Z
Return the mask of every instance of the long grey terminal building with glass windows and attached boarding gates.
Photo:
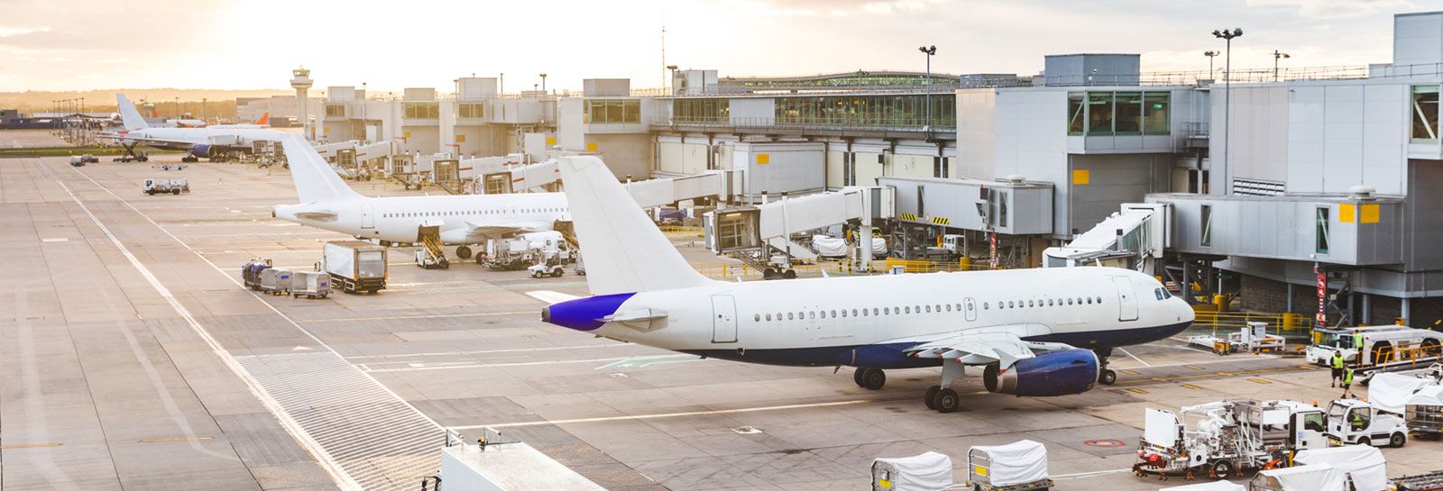
M1105 256L1247 310L1312 317L1323 282L1329 324L1443 318L1430 248L1443 240L1443 13L1397 16L1394 60L1368 68L1042 62L1036 75L674 69L659 91L329 86L315 135L462 160L599 154L635 180L732 171L736 204L882 186L895 238L961 238L974 258L996 238L1004 266Z

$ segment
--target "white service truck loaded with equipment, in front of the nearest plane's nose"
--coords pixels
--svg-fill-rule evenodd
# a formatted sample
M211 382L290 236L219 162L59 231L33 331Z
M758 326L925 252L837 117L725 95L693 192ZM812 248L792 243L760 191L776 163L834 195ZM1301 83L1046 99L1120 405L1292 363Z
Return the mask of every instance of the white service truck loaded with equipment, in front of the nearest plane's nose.
M1326 448L1322 409L1294 400L1219 400L1179 412L1147 409L1133 472L1228 478L1286 467L1293 451Z

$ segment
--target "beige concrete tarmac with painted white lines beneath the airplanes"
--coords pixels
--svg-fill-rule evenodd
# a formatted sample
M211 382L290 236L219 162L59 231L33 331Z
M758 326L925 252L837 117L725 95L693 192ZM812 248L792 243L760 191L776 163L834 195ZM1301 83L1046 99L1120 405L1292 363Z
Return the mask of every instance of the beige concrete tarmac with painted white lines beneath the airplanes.
M1078 396L991 395L967 377L962 410L941 415L921 400L935 369L870 392L847 369L595 338L540 323L525 295L584 295L583 276L421 269L411 249L391 249L377 295L271 297L241 287L242 262L306 269L346 236L271 219L296 200L284 168L157 163L0 158L3 491L414 490L443 429L486 426L609 490L870 490L873 458L926 451L951 455L962 482L970 446L1019 439L1046 443L1058 490L1157 490L1183 482L1130 472L1144 407L1341 393L1299 357L1177 338L1118 351L1118 383ZM147 177L189 179L190 193L146 196ZM1437 469L1440 449L1384 449L1388 474Z

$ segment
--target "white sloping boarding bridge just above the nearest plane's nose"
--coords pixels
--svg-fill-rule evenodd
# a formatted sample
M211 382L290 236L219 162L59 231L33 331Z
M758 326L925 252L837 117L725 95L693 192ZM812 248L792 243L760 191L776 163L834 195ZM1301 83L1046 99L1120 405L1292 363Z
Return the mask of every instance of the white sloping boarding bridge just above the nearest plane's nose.
M1072 239L1042 251L1045 268L1101 265L1157 275L1172 246L1172 204L1123 203L1120 212Z

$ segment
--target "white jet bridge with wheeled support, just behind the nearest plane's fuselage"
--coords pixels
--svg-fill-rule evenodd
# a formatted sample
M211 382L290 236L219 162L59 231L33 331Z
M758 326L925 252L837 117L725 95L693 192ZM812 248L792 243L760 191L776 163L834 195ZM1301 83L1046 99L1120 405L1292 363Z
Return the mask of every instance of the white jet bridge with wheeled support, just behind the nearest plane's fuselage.
M706 243L716 253L769 255L775 249L791 259L815 259L811 248L791 240L792 233L859 220L859 236L870 238L873 220L896 215L893 193L895 189L886 186L844 187L841 192L782 196L756 206L710 212L703 217ZM869 263L872 248L859 251L861 263Z

